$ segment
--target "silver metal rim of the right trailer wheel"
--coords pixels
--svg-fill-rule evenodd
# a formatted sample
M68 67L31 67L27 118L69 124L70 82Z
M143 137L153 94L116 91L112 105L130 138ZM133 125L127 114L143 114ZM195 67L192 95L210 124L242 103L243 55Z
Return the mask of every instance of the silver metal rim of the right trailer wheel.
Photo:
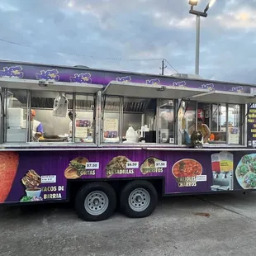
M128 198L129 206L133 211L145 211L150 203L150 195L144 188L136 188Z

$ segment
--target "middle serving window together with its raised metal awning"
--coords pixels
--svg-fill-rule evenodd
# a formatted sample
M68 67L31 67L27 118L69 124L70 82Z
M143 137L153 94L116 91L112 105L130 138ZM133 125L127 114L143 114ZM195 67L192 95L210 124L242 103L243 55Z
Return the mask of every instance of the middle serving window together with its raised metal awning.
M209 90L112 81L103 91L106 101L102 142L174 144L178 99L206 92ZM116 106L116 117L109 120L107 116L114 112L109 112L108 104L114 97L120 107ZM110 126L115 131L110 131Z

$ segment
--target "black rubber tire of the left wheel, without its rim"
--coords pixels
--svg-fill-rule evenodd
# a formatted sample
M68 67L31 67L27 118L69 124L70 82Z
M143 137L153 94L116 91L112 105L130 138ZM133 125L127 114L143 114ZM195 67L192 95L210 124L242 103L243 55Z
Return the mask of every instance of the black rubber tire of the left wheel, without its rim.
M86 197L88 196L88 194L94 191L104 192L108 198L107 209L104 212L102 212L100 215L90 214L84 206L84 201ZM107 183L88 183L78 191L75 198L75 208L79 218L81 218L82 220L85 220L85 221L107 220L110 216L113 215L116 209L116 192Z

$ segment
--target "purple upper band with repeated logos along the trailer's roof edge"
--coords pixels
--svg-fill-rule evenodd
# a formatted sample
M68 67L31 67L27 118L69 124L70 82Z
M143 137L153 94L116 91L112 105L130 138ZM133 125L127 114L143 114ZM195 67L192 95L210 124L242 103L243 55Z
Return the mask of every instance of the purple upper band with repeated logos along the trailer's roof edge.
M40 66L38 64L0 63L0 77L25 79L54 79L59 82L94 83L106 86L111 81L160 84L187 88L207 88L230 92L250 92L249 86L231 83L213 83L206 81L184 80L180 78L159 77L135 73L120 73L90 69L68 69L56 66Z

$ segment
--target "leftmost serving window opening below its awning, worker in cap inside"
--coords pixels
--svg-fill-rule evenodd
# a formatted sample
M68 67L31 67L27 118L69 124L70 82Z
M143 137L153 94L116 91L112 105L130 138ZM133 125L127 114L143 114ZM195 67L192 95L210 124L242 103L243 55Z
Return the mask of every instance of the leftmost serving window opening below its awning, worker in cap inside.
M4 88L2 141L8 144L93 143L95 97L74 92ZM64 103L60 111L58 102ZM75 132L73 132L73 130Z

